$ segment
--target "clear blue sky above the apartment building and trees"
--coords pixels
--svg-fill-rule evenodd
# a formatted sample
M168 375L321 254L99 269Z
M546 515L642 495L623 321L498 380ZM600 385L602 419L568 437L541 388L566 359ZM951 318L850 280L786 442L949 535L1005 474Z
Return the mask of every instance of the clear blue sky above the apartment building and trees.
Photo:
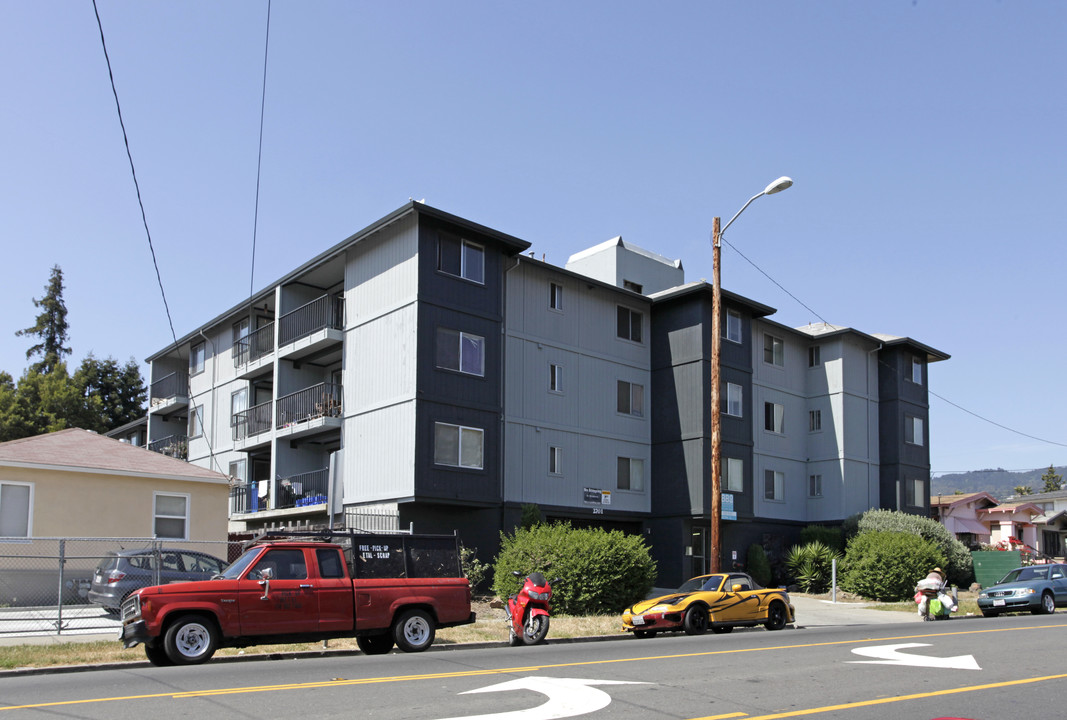
M1067 465L1067 3L98 0L179 336L425 198L550 262L622 235L952 355L935 473ZM71 364L171 341L90 0L0 0L0 369L49 269Z

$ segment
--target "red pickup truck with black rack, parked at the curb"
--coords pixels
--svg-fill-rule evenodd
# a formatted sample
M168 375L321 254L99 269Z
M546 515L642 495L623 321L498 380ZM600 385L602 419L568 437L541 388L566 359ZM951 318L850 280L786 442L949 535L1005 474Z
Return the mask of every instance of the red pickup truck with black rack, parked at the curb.
M417 653L436 628L475 621L453 535L302 534L257 539L211 580L139 590L122 606L123 645L157 666L351 637L367 655Z

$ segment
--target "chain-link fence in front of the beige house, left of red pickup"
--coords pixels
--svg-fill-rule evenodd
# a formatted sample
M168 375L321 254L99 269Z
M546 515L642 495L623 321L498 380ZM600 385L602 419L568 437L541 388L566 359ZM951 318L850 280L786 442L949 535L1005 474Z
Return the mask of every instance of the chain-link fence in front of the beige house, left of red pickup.
M130 592L208 579L241 542L0 538L0 638L114 631Z

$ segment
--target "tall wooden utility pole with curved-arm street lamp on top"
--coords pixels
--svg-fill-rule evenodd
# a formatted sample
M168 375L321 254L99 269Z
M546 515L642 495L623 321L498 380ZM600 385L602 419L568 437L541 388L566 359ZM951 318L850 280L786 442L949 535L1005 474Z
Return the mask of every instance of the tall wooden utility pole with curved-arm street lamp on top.
M719 534L719 523L722 518L722 400L720 397L720 371L719 363L722 343L722 283L720 278L719 252L722 245L722 234L727 227L737 220L737 215L745 211L757 197L763 195L774 195L776 192L785 190L793 180L787 177L780 177L766 188L763 192L757 193L748 198L740 210L734 213L730 222L722 229L719 229L719 218L712 222L712 548L711 548L711 572L718 573L721 570L722 540Z

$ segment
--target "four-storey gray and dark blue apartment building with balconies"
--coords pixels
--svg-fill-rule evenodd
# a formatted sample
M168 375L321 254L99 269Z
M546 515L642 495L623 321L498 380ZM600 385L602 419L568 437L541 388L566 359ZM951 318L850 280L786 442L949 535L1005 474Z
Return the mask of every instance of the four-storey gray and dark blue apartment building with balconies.
M230 476L234 531L413 525L488 559L535 503L644 534L662 583L703 572L711 286L621 238L529 246L409 203L152 355L148 446ZM925 513L947 355L723 295L726 565Z

